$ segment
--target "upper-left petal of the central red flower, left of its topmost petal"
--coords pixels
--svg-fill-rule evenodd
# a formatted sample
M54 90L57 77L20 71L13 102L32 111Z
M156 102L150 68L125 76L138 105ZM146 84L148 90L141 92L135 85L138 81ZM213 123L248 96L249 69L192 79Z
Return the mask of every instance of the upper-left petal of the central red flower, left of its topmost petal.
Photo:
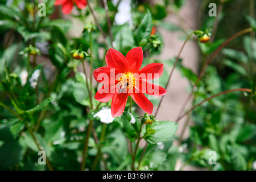
M119 69L122 73L129 71L129 63L121 52L110 48L105 56L106 65Z

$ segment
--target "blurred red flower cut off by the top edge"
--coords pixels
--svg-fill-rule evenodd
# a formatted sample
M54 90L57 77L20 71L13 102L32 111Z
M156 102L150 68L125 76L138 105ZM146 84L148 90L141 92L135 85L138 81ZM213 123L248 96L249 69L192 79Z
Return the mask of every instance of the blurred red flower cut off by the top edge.
M64 14L70 14L73 9L73 2L76 3L79 9L84 9L84 7L87 5L86 0L56 0L54 5L62 5L62 12Z

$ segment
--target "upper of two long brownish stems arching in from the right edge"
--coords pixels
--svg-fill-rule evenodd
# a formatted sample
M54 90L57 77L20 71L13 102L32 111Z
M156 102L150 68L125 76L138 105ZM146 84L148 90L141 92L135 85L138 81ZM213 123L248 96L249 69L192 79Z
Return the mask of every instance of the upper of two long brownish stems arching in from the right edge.
M214 51L214 53L212 54L212 56L210 56L210 58L208 59L207 63L204 64L204 67L203 69L201 69L201 72L199 74L199 77L197 77L197 80L195 82L195 85L193 86L192 88L192 92L189 94L189 96L187 97L187 99L185 100L184 104L182 105L181 107L181 110L178 114L178 117L180 117L181 113L183 112L183 110L185 109L185 106L187 106L188 104L188 101L191 99L191 97L193 96L193 92L194 90L196 89L196 86L199 84L199 81L201 80L201 77L203 76L204 72L205 72L205 69L207 68L207 66L212 62L213 58L217 55L218 52L221 51L222 48L224 48L226 46L226 44L228 44L230 41L232 41L233 39L237 38L238 36L242 35L242 34L246 34L247 32L251 32L253 31L253 28L246 28L245 30L242 30L240 32L237 32L236 34L230 36L229 39L227 39L224 43L221 44L220 47L218 47L216 49L216 51ZM177 119L176 119L177 121Z

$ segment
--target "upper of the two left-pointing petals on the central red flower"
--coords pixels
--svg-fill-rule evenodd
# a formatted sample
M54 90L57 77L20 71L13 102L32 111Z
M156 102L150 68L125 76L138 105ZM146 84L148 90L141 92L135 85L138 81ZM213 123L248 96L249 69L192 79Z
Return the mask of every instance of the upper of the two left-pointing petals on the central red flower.
M101 67L94 70L93 76L97 82L108 84L111 80L115 80L115 76L118 73L120 73L120 71L114 67Z

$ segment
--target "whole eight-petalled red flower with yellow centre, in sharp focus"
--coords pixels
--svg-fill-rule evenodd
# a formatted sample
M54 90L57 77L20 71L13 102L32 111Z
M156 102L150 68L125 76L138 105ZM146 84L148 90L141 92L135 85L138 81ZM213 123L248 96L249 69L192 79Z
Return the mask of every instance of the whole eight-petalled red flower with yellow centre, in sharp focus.
M110 48L105 59L107 67L98 68L93 72L95 80L104 84L98 89L94 98L100 102L108 102L112 98L113 117L123 113L128 96L131 96L146 113L151 114L153 104L144 96L144 93L152 96L166 94L164 88L148 82L163 74L163 64L151 63L139 70L143 61L141 47L131 49L126 57Z

